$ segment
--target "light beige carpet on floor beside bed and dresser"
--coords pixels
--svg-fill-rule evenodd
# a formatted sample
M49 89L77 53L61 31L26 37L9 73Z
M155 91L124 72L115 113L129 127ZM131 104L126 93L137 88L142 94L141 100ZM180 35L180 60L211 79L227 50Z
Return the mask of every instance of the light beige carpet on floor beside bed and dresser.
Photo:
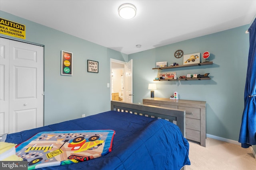
M256 159L249 148L212 138L206 139L206 147L188 142L191 165L185 170L256 170Z

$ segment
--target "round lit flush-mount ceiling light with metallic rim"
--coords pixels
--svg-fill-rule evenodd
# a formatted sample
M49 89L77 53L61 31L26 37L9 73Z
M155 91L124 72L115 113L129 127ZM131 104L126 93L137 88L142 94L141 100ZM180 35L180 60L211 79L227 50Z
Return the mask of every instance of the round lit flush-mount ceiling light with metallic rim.
M136 7L132 4L122 4L118 8L118 14L121 18L132 19L136 15Z

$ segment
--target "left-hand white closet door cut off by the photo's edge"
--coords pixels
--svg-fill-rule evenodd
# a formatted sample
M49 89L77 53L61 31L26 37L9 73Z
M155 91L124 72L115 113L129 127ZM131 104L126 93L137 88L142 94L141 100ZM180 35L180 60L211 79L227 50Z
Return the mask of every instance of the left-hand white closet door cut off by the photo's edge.
M9 40L0 38L0 134L9 132Z

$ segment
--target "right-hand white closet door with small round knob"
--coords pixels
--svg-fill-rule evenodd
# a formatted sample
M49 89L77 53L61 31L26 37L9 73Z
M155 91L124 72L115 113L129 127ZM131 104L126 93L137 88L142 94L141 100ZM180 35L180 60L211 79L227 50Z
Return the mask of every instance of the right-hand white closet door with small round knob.
M41 127L44 124L44 48L9 40L9 49L5 51L9 52L9 115L6 115L9 121L5 122L9 123L9 129L4 133Z

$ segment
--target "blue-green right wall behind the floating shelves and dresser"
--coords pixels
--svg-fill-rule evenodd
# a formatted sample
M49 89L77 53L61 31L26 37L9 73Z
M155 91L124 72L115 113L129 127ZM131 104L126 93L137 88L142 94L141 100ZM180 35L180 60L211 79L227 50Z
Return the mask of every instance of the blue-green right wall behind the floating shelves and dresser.
M206 101L206 133L238 141L242 112L244 109L244 86L246 79L249 25L229 29L179 43L150 49L129 55L133 59L134 103L150 97L148 83L153 83L158 70L156 62L167 61L168 65L183 63L174 52L182 49L184 54L210 52L212 65L162 70L187 74L210 73L211 80L197 81L154 81L157 86L155 97L169 98L174 91L179 99ZM203 60L204 62L205 60Z

